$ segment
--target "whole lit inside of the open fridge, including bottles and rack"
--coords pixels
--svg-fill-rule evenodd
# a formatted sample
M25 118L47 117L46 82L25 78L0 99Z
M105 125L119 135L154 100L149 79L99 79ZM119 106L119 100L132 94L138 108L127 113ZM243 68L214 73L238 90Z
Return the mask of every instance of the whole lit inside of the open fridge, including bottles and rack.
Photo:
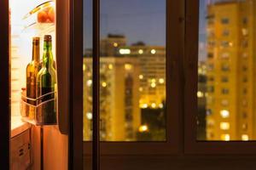
M9 0L11 169L67 169L68 138L58 126L55 6L55 0Z

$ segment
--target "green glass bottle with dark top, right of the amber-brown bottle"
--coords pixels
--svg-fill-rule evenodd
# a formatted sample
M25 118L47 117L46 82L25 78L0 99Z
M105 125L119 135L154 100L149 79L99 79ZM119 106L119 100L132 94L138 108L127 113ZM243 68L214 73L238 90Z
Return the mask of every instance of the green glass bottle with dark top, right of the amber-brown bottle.
M37 121L42 124L55 124L55 94L50 93L55 92L56 71L52 54L52 39L49 35L44 36L43 66L38 72L37 82L39 98Z

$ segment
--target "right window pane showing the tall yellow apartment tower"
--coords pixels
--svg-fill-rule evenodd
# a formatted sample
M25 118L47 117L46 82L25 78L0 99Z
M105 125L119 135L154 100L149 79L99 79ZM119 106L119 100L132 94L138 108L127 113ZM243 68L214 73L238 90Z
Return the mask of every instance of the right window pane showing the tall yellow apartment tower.
M256 1L200 1L199 140L254 140Z

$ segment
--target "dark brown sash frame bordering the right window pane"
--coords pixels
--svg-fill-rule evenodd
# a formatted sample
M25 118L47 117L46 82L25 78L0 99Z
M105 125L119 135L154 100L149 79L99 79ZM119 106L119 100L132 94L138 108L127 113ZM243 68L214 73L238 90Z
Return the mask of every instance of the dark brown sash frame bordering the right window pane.
M200 1L186 0L184 153L211 155L256 155L256 141L197 141L197 82Z

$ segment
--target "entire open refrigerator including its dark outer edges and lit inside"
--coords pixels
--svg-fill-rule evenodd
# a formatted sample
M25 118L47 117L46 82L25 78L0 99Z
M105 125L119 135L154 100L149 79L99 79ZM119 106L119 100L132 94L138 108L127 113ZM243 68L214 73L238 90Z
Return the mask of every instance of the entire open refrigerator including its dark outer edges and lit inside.
M73 99L73 95L82 93L73 93L74 83L82 82L79 79L82 65L77 62L82 59L82 54L73 59L74 54L80 53L74 51L79 50L82 43L73 48L77 42L81 42L79 39L74 42L79 35L73 32L76 29L82 32L80 24L74 26L78 21L73 20L76 15L73 8L77 7L78 11L82 9L78 3L73 2L5 0L0 3L1 169L82 169L82 97ZM79 18L82 18L81 14ZM41 83L39 76L36 79L31 76L28 82L27 77L30 76L27 67L32 62L33 39L36 38L39 42L38 72L45 69L45 65L50 65L49 57L45 54L45 37L50 37L52 42L55 77L51 77L54 87L43 93L43 79ZM45 61L46 58L48 61ZM76 78L73 78L76 73L73 65L79 65L76 68L78 70L81 68ZM32 80L36 80L36 84ZM36 89L35 97L28 96L27 93L31 90L31 84ZM82 89L79 86L77 88ZM74 109L81 111L77 111L75 115ZM50 114L55 118L47 120L45 117ZM81 121L74 123L79 119Z

